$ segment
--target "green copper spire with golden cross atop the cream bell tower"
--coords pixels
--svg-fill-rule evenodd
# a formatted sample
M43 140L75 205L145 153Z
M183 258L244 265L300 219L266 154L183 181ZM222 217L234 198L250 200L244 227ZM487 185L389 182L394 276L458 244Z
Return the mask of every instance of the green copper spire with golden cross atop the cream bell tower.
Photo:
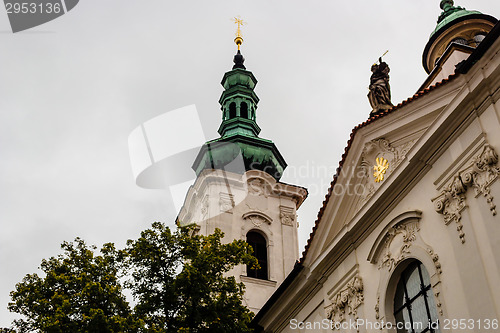
M256 122L256 111L259 98L254 91L257 79L243 64L242 41L238 30L234 66L224 74L221 82L224 87L219 99L222 123L218 132L221 137L203 145L193 163L193 170L197 176L207 169L236 173L260 170L279 180L287 165L274 143L258 136L260 127Z

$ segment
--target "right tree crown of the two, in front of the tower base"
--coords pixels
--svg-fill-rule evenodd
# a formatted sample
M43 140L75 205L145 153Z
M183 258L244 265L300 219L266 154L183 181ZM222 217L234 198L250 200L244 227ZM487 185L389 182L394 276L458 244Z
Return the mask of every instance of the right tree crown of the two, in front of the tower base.
M244 285L224 274L238 264L257 265L251 247L242 240L222 244L219 229L209 236L194 231L171 233L156 222L128 242L137 314L149 332L250 332Z

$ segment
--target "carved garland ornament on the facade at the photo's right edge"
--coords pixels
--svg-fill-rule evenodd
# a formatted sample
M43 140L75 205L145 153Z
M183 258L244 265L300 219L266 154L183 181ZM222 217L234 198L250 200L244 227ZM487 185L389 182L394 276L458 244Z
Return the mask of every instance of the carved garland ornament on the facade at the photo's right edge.
M491 213L496 212L493 196L490 193L490 185L498 178L500 168L498 155L493 148L486 144L481 154L476 156L469 166L457 173L453 180L444 187L441 194L432 199L436 212L443 215L446 225L455 222L458 236L465 243L465 233L461 222L462 212L467 208L466 194L468 188L473 188L475 196L483 195L490 207Z

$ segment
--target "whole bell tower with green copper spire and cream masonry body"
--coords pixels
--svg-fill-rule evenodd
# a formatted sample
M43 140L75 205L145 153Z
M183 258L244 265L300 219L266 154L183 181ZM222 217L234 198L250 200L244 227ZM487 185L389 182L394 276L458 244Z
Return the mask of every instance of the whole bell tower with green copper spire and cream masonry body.
M271 140L259 137L257 79L244 65L242 21L236 23L238 51L221 82L220 137L200 149L192 166L197 179L178 221L196 223L204 235L219 228L224 241L252 246L260 269L240 265L229 274L245 284L244 303L258 312L299 258L296 212L307 190L280 182L286 162Z

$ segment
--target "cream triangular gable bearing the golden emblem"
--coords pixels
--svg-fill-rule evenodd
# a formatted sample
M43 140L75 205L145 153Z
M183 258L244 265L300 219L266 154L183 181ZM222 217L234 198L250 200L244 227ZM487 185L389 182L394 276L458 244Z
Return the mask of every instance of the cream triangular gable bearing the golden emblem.
M363 208L373 204L372 198L377 193L387 191L389 187L392 191L395 187L397 191L403 190L392 186L392 175L406 168L407 163L403 162L412 148L460 91L457 84L436 91L435 88L441 85L427 89L422 93L424 98L411 104L403 102L392 112L390 110L376 119L370 118L353 130L332 187L318 214L312 234L314 241L306 247L308 262L319 257L358 215L364 214ZM414 98L420 97L419 94Z

